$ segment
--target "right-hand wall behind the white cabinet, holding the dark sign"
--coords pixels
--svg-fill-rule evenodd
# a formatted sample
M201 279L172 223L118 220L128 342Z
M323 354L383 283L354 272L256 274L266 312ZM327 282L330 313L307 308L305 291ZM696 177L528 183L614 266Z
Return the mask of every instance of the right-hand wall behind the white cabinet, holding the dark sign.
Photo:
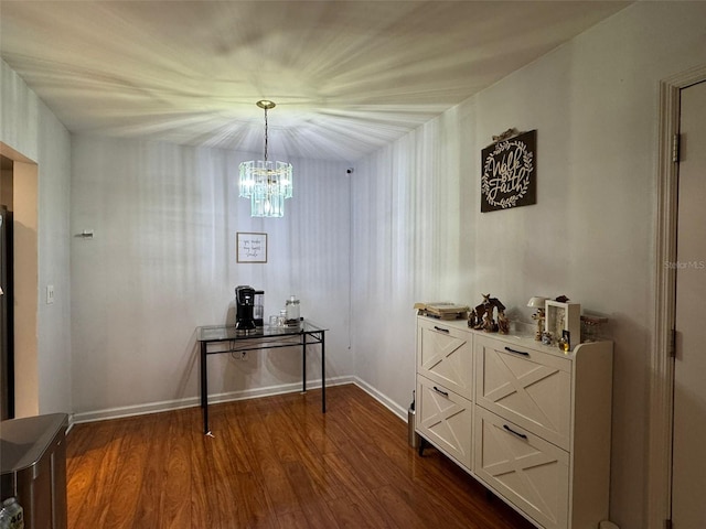
M645 527L659 82L706 62L706 3L640 2L359 163L357 375L414 389L415 301L566 294L616 341L611 518ZM537 204L480 213L480 152L537 129ZM382 325L381 323L385 324Z

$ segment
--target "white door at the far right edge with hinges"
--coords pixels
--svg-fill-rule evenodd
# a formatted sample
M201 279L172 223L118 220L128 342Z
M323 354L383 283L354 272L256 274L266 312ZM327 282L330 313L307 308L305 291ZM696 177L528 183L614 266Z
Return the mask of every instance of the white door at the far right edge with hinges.
M681 93L672 522L706 528L706 82Z

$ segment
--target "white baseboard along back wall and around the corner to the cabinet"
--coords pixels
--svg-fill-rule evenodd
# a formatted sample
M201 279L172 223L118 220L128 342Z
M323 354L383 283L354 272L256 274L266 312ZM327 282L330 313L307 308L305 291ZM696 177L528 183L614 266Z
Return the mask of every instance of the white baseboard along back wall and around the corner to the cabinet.
M335 377L327 379L327 387L341 386L343 384L356 384L362 389L371 393L377 400L381 400L376 395L360 384L355 377ZM317 389L321 387L321 379L308 380L307 387L309 389ZM215 404L218 402L231 402L235 400L256 399L258 397L270 397L274 395L292 393L301 390L301 382L282 384L279 386L268 386L265 388L245 389L239 391L228 391L225 393L214 393L208 396L208 403ZM385 406L389 406L381 400ZM69 415L69 429L74 424L81 424L83 422L105 421L109 419L120 419L124 417L145 415L148 413L159 413L162 411L180 410L182 408L192 408L201 404L201 397L188 397L184 399L163 400L158 402L149 402L146 404L124 406L119 408L108 408L104 410L87 411L83 413L73 413Z

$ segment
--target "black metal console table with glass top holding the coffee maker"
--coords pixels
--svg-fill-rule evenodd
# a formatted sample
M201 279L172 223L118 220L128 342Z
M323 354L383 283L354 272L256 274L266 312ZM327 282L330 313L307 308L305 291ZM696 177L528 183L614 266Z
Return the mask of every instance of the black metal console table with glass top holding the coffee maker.
M245 350L274 349L280 347L301 347L301 387L307 391L307 346L321 346L321 412L327 411L327 376L325 376L325 344L327 330L302 321L297 326L264 326L244 332L235 325L210 325L196 327L196 342L201 346L201 409L203 412L203 433L208 430L208 370L206 358L208 355L224 353L242 353ZM210 345L221 344L214 349ZM223 344L227 348L223 348Z

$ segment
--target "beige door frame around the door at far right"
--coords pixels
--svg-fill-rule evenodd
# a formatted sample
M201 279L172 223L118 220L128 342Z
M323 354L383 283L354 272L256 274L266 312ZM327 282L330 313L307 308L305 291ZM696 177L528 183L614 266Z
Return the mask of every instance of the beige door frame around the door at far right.
M648 432L648 528L662 529L672 517L672 430L674 358L670 355L675 317L678 162L674 137L680 130L681 90L706 80L706 65L660 83L657 204L655 248L655 324L650 357Z

